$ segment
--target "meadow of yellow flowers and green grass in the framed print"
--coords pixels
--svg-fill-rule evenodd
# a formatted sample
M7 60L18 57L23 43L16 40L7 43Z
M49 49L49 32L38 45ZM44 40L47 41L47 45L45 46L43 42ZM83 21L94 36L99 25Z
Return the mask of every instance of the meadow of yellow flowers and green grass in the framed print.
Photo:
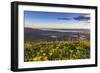
M90 41L25 41L24 61L75 60L90 58Z

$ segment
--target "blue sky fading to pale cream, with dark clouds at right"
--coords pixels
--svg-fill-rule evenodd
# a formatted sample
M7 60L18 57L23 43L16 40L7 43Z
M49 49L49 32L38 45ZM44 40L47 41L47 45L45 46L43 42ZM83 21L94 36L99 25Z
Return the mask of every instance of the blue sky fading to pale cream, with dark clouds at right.
M90 29L90 14L24 11L25 27Z

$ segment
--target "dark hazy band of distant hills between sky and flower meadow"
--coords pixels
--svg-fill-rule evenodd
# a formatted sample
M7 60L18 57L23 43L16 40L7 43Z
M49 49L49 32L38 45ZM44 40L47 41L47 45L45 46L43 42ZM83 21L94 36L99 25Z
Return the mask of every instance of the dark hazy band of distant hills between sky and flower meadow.
M68 32L65 32L68 31ZM75 31L75 32L74 32ZM84 29L33 29L24 28L25 40L55 40L57 36L61 36L63 40L68 38L77 38L78 34L85 36L87 39L90 35L87 34L89 30ZM55 37L55 38L54 38Z

